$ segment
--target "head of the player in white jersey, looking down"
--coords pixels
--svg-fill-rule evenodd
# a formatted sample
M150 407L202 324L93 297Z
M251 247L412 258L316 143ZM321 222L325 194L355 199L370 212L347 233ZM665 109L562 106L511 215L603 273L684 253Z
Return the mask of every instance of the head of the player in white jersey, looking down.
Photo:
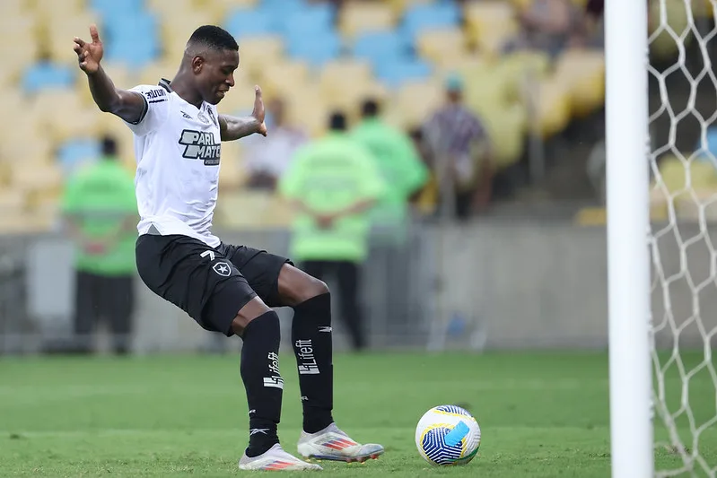
M234 86L239 45L228 31L205 25L189 37L184 62L194 74L195 88L202 100L215 105Z

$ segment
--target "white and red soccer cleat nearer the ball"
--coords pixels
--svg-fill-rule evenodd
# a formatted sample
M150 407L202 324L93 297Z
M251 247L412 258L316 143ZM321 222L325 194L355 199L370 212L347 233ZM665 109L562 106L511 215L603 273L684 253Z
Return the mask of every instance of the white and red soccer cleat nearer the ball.
M378 458L383 454L383 447L373 443L362 445L350 439L343 431L338 430L336 423L316 433L302 431L299 439L299 455L304 458L318 460L360 462L369 458Z

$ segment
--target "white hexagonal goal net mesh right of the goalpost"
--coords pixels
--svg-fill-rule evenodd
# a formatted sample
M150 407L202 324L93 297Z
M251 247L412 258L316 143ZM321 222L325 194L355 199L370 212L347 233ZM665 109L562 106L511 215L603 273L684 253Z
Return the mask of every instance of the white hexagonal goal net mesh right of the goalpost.
M650 3L655 470L717 475L717 0Z

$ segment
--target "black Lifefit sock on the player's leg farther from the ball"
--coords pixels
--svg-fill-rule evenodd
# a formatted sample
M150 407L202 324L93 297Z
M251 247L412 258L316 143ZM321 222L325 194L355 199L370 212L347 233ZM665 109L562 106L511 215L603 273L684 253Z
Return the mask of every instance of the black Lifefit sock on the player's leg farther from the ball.
M247 456L258 456L279 439L276 426L281 419L284 379L279 374L279 317L267 312L244 329L241 348L241 379L249 403L249 448Z

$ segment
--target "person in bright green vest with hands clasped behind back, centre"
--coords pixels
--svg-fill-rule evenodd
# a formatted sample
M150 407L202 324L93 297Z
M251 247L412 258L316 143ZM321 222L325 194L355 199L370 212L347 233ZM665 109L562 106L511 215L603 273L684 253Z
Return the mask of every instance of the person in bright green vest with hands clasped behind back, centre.
M279 191L297 212L291 254L307 274L335 274L341 315L359 351L367 346L359 269L368 255L371 208L386 185L371 153L347 134L342 113L331 115L328 129L294 154Z

